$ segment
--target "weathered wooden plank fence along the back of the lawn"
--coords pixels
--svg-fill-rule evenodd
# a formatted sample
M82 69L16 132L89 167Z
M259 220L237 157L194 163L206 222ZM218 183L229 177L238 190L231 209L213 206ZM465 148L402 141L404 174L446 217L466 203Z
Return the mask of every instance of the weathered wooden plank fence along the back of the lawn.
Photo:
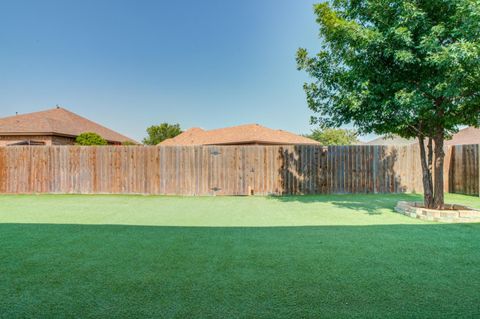
M446 148L445 190L479 191L479 145ZM0 148L0 193L422 192L418 146Z

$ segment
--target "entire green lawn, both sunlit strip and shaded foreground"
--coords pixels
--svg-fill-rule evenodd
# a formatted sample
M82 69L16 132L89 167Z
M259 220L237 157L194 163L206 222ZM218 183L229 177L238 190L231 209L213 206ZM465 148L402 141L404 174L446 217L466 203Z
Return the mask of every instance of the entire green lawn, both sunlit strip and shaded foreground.
M0 196L0 317L480 316L480 224L401 199Z

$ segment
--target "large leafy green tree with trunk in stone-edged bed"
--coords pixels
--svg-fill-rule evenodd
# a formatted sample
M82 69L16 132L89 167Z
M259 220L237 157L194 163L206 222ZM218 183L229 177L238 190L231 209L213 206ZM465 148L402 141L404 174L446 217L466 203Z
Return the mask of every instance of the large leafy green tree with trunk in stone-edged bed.
M297 51L298 68L314 79L304 85L313 121L418 138L425 205L442 209L444 139L459 125L480 124L480 1L333 0L314 8L321 50Z

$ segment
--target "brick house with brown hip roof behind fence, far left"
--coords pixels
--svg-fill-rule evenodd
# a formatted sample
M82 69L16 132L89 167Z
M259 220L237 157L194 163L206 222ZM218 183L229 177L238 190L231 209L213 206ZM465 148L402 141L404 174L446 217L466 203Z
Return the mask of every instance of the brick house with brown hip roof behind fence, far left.
M97 133L113 145L137 143L61 107L0 118L0 146L73 145L85 132Z

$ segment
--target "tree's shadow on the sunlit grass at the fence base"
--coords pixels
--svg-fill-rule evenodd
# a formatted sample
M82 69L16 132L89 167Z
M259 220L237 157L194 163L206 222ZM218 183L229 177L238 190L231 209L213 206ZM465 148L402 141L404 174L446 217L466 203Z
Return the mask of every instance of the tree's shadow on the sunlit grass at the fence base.
M268 199L280 202L303 204L326 203L339 208L352 209L369 215L380 215L381 210L392 210L398 201L421 201L418 194L345 194L345 195L299 195L269 196Z

